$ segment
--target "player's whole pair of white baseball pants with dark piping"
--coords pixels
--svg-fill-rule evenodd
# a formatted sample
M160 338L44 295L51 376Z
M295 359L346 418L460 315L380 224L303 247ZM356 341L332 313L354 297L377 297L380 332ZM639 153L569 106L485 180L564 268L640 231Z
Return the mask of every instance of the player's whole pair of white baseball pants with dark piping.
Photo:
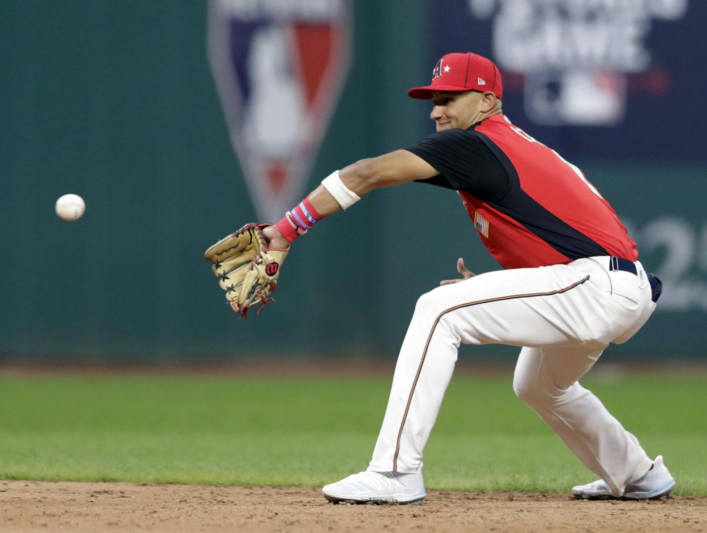
M395 367L369 469L421 472L422 452L464 344L522 346L513 389L614 496L653 463L578 380L610 342L627 341L655 303L640 262L609 257L479 274L419 298Z

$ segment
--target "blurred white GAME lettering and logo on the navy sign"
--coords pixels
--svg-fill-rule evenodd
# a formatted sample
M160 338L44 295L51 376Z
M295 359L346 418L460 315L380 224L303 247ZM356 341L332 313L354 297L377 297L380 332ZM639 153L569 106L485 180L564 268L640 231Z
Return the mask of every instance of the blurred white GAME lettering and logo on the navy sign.
M626 113L627 76L662 94L670 75L652 61L651 22L684 18L687 0L470 0L493 21L501 69L525 76L527 116L537 124L613 125Z

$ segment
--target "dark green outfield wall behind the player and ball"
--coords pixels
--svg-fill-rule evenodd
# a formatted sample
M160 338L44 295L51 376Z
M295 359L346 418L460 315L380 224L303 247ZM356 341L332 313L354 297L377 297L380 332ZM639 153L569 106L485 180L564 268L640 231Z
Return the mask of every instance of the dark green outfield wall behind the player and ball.
M310 188L431 131L428 105L405 95L434 60L425 5L356 3L351 71ZM392 358L416 298L457 257L496 268L454 193L403 185L298 240L276 303L239 322L203 258L255 219L206 57L206 6L6 0L0 43L2 359ZM659 311L611 357L705 358L707 165L573 163L665 281ZM86 199L74 223L54 214L67 192Z

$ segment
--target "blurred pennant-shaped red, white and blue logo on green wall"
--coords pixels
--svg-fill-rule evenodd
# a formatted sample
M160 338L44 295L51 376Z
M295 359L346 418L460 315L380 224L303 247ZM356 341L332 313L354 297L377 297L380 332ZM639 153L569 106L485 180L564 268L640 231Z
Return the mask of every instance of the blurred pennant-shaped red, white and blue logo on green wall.
M351 0L211 0L209 63L262 221L305 194L349 72Z

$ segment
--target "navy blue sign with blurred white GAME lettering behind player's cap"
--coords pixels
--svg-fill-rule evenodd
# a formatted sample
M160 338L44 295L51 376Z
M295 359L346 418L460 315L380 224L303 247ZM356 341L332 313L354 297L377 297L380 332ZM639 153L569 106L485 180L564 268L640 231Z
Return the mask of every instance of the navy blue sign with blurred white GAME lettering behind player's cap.
M698 136L665 124L707 111L692 53L707 3L450 0L433 13L436 56L491 57L513 121L563 155L706 158Z

